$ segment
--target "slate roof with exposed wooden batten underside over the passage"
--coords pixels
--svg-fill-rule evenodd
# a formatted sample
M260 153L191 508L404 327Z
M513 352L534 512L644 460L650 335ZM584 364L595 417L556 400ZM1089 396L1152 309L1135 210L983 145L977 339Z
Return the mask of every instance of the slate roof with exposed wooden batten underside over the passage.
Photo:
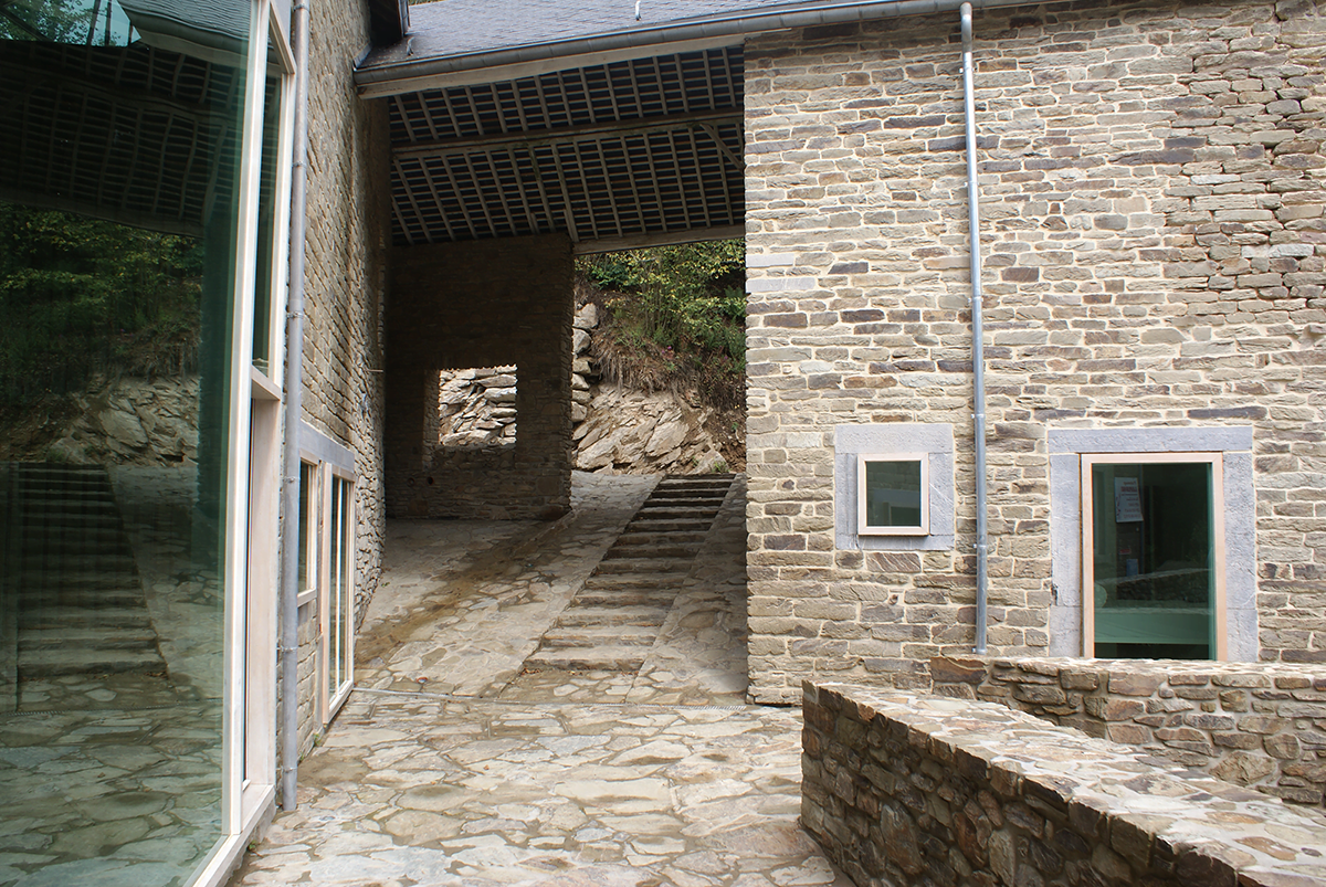
M940 5L640 0L639 20L636 0L414 5L406 40L357 72L390 109L392 237L558 232L598 252L741 236L743 36Z

